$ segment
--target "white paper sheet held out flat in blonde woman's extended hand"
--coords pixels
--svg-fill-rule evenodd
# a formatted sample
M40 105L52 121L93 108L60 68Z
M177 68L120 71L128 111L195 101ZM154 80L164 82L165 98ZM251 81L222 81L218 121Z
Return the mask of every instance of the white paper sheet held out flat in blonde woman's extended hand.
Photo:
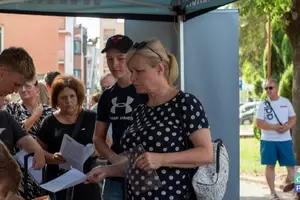
M58 192L75 185L78 185L85 181L87 176L82 172L78 171L77 169L71 169L70 171L66 172L65 174L49 181L48 183L40 185L41 188L49 192Z

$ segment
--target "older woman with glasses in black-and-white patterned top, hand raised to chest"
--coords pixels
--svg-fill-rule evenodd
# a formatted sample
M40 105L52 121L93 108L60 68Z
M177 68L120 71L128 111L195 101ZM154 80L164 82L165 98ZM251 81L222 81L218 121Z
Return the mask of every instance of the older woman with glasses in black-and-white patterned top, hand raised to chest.
M39 92L37 80L28 81L19 89L21 101L12 102L5 108L33 138L36 138L42 120L53 112L50 106L40 104ZM21 170L24 173L23 167L21 167ZM24 187L24 179L22 179L21 186ZM24 194L21 189L20 195L25 199L33 199L41 196L43 194L42 191L42 188L29 176L28 193Z

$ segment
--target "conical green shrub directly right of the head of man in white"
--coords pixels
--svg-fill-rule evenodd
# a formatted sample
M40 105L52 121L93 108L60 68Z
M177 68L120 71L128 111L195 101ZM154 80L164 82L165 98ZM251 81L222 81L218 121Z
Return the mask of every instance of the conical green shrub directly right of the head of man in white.
M292 95L293 88L293 65L290 65L284 72L279 85L279 94L285 98L288 98L291 102L293 99Z

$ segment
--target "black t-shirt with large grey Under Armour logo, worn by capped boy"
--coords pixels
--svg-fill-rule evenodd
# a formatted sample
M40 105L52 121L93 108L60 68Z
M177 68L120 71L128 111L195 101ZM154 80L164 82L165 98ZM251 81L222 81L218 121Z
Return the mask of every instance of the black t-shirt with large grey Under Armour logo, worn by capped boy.
M112 124L113 145L111 149L117 154L123 152L120 140L131 124L132 111L145 100L146 97L138 94L134 85L121 88L118 83L106 89L100 96L97 121Z

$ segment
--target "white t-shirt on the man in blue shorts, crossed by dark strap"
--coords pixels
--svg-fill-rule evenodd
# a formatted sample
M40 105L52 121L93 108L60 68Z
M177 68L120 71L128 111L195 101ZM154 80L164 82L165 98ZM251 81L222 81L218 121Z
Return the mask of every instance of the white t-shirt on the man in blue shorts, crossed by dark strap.
M269 102L282 124L287 123L289 121L289 117L296 115L291 102L284 97L279 97L277 101L269 100ZM260 103L256 113L256 118L264 120L268 124L278 124L274 112L265 101ZM261 130L261 140L287 141L291 139L290 130L285 133L278 133L273 130Z

